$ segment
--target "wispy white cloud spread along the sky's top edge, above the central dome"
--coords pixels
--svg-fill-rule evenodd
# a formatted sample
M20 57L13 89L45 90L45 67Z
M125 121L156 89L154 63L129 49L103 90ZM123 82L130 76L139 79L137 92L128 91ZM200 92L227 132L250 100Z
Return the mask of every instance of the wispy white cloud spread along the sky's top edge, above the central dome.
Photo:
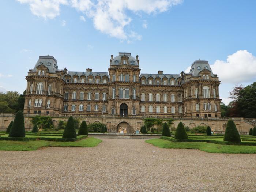
M132 19L126 12L157 14L183 0L17 0L30 5L31 12L44 19L60 15L60 5L70 5L93 20L95 29L121 41L132 41L127 26ZM134 14L134 15L136 15ZM81 17L80 17L81 19ZM147 24L144 23L144 28ZM137 35L139 37L140 35ZM140 40L141 38L137 38Z

